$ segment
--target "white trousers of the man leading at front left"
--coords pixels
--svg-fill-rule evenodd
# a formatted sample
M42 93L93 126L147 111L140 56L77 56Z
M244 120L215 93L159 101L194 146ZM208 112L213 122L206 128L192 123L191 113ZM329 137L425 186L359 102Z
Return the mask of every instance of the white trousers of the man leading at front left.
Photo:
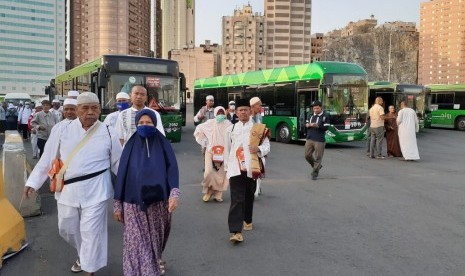
M76 248L82 270L96 272L107 265L107 201L86 208L57 203L60 236Z

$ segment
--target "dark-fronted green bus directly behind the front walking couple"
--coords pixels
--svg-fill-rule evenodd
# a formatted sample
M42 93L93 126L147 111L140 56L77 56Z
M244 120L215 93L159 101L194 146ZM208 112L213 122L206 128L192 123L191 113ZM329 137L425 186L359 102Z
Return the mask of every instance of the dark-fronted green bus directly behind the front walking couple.
M181 141L181 128L186 118L186 81L176 61L104 55L56 76L48 92L50 98L65 97L69 90L96 93L103 120L107 114L116 111L116 94L130 94L135 85L147 89L147 106L160 113L166 137L171 142Z

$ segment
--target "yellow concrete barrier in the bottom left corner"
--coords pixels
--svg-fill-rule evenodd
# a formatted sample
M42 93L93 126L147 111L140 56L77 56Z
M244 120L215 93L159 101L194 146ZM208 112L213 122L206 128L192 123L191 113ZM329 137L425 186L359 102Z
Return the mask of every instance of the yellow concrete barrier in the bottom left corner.
M5 197L2 175L3 172L0 173L0 268L3 259L27 246L24 219Z

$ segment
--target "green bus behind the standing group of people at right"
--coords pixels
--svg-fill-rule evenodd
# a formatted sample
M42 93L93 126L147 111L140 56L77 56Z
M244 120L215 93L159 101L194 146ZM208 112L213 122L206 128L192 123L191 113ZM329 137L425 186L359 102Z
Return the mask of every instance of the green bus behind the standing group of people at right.
M399 84L386 81L377 81L368 83L370 93L368 104L371 107L375 103L376 97L382 97L384 101L385 112L388 107L393 105L398 111L400 102L406 101L407 106L416 111L420 128L428 124L430 120L429 100L430 89L423 85L416 84Z

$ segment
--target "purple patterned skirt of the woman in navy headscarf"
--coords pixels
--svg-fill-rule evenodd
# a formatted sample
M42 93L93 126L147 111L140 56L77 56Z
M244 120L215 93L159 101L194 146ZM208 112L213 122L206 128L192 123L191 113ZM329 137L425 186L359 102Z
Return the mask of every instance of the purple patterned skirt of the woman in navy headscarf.
M168 201L150 205L143 212L136 204L123 203L123 272L127 276L157 276L171 228Z

